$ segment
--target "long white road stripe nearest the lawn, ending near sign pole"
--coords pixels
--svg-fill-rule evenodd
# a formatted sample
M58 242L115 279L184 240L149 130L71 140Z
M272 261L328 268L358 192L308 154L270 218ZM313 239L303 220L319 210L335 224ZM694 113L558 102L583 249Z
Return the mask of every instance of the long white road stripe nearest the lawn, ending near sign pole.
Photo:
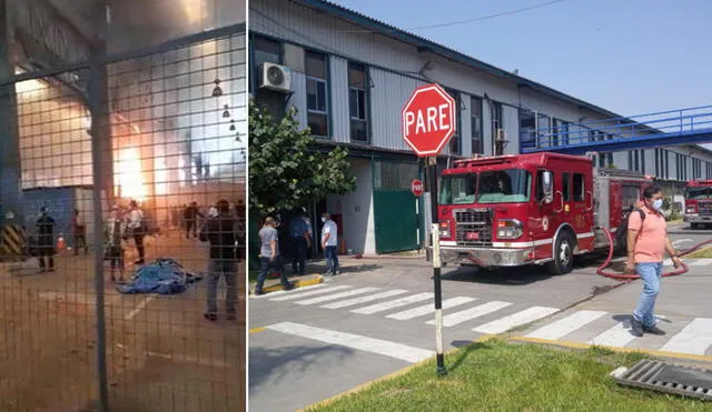
M281 322L269 325L266 329L328 344L338 344L364 352L377 353L411 363L419 362L435 355L435 352L433 351L408 346L397 342L315 328L294 322Z

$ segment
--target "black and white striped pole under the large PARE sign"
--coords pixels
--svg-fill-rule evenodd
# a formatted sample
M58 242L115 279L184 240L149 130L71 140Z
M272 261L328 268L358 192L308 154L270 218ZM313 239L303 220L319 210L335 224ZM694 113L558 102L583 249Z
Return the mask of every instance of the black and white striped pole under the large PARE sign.
M437 217L437 157L428 157L427 183L431 192L431 218L433 239L433 283L435 289L435 348L437 358L437 374L447 374L445 356L443 354L443 288L441 284L441 235Z

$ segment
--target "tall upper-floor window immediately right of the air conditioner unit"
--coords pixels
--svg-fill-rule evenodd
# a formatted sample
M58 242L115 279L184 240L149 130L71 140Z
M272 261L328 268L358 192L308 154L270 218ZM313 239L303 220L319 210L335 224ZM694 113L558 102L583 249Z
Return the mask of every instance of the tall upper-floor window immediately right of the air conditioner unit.
M326 54L306 51L307 123L312 134L329 135Z

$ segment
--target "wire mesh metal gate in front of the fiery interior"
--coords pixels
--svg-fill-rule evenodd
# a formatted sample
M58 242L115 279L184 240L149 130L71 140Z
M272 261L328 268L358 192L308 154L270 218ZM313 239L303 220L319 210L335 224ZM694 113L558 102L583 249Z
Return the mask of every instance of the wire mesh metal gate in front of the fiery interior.
M0 410L245 410L245 34L0 80Z

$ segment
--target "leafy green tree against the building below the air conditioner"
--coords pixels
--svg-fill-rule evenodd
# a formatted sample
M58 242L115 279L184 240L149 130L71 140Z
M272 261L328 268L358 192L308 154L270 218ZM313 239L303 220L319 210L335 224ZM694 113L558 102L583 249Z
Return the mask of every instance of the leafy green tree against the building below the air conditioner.
M356 188L347 150L318 151L310 130L299 130L296 113L290 108L275 121L268 110L249 104L249 202L265 214Z

